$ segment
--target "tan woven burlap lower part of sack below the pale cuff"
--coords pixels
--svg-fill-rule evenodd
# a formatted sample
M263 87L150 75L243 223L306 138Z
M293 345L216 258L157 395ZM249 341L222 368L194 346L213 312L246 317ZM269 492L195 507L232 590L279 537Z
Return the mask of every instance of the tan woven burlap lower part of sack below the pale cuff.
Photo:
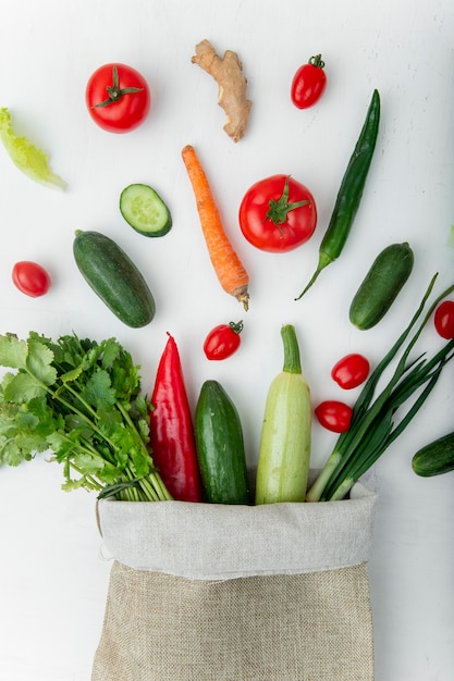
M114 562L93 681L371 681L367 565L188 580Z

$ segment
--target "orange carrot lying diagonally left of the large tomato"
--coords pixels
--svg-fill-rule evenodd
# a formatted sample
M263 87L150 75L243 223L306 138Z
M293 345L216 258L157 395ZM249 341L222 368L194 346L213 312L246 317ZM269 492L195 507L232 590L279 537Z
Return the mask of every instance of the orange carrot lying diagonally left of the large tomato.
M247 310L249 276L224 232L204 168L191 145L184 147L182 157L193 185L201 231L219 283L228 294L243 302Z

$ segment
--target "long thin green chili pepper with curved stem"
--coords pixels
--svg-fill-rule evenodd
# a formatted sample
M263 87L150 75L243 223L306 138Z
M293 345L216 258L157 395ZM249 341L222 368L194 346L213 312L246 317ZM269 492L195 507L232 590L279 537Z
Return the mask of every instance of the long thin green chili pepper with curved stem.
M314 284L320 272L336 260L345 246L353 221L361 200L366 177L376 148L380 122L380 95L373 90L358 141L349 159L338 193L334 210L327 232L321 240L317 270L306 288L295 300L299 300Z

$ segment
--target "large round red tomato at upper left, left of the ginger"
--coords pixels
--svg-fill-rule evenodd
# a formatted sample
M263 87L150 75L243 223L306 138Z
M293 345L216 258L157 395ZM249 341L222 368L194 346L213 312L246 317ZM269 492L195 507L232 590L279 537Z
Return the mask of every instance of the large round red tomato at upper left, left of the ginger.
M151 95L144 76L126 64L105 64L90 76L85 90L87 109L102 129L128 133L145 121Z

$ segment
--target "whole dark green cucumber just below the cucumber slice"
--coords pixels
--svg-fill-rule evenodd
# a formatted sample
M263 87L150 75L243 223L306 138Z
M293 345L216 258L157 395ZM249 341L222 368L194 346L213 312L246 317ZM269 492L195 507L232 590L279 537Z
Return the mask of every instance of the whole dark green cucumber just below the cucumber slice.
M73 252L85 281L124 324L133 329L149 324L156 311L152 294L137 267L113 239L99 232L78 230Z

